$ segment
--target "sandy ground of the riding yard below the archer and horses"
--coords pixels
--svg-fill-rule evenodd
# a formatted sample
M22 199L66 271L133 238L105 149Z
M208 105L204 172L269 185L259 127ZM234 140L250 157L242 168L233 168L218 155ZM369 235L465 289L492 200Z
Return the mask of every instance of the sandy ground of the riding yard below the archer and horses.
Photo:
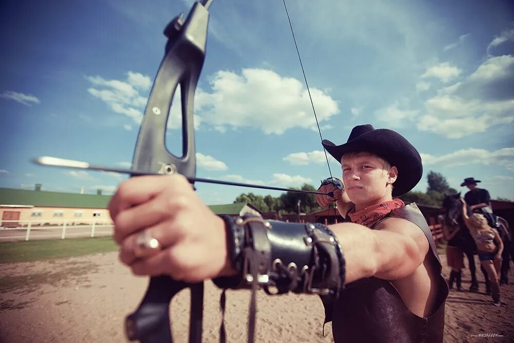
M442 260L446 261L445 256ZM447 273L447 270L445 269ZM446 304L445 342L513 342L514 268L502 300L492 305L482 293L451 291ZM469 288L465 270L463 286ZM481 273L479 280L483 281ZM123 342L123 321L139 303L148 279L135 278L117 253L52 261L0 264L1 342ZM206 283L204 341L217 342L221 315L219 291ZM246 341L248 291L227 293L225 323L230 342ZM172 301L175 342L186 342L189 294ZM258 294L258 342L332 342L332 327L322 335L323 307L316 296Z

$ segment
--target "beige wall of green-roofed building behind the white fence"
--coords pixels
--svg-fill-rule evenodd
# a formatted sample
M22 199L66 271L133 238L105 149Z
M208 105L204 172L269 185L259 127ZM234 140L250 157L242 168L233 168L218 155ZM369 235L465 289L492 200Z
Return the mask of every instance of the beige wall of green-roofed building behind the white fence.
M19 221L20 225L23 226L28 224L27 221L32 221L32 225L62 224L64 221L74 224L90 224L93 221L97 224L112 224L113 222L105 208L0 207L0 219L3 218L4 211L20 212ZM32 213L41 214L33 215ZM94 216L94 213L97 213L97 215ZM7 226L6 224L2 225Z

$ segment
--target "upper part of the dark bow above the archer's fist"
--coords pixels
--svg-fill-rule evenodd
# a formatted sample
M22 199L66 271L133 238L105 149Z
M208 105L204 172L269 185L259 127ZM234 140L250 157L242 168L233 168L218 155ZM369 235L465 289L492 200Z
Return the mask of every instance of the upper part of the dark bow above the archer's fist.
M175 18L164 30L169 38L150 93L139 130L132 168L138 172L196 172L193 99L205 59L209 12L195 4L185 23ZM170 108L177 86L181 89L182 156L171 154L165 145Z

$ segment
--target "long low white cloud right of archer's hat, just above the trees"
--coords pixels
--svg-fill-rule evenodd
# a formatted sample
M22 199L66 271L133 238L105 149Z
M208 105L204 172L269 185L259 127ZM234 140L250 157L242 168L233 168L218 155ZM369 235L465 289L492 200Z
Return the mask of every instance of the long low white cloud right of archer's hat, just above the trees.
M441 156L423 153L420 155L424 166L457 167L481 164L485 166L502 166L514 171L514 148L503 148L496 151L463 149Z

